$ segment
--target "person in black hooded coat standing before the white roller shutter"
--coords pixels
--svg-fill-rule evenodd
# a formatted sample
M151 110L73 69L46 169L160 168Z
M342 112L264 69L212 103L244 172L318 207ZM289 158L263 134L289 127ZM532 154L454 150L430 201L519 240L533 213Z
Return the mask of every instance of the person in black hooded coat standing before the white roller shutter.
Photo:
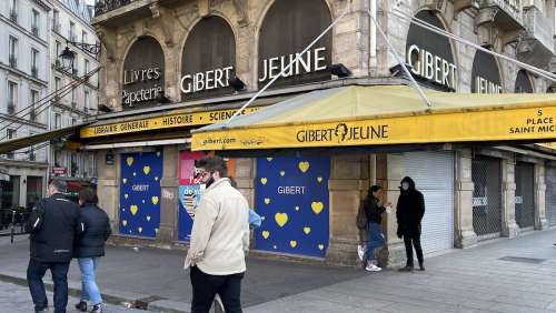
M425 271L423 263L423 249L420 246L420 222L425 215L425 198L417 189L413 179L406 176L401 180L400 194L396 206L398 220L398 238L404 238L406 245L407 263L400 269L403 272L414 270L414 246L419 261L419 269Z

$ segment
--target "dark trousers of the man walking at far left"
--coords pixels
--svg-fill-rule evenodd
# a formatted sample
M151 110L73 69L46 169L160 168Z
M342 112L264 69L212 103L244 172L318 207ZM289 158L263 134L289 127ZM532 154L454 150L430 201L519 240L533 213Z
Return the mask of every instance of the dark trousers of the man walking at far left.
M70 262L50 263L31 259L27 267L27 282L34 303L34 311L48 307L42 277L50 270L54 283L54 313L66 313L68 305L68 270Z

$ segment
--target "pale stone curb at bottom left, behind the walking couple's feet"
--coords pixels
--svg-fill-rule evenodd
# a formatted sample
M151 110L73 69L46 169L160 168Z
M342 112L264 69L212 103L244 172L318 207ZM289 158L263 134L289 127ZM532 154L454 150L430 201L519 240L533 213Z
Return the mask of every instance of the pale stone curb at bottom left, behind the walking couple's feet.
M19 273L10 273L10 272L0 272L0 281L12 283L21 286L28 286L27 277L21 276ZM44 280L44 289L48 291L53 291L53 284L48 279ZM81 284L76 283L73 281L68 282L68 293L70 296L79 297L81 295ZM148 299L150 295L131 293L131 292L121 292L105 289L101 293L102 300L106 303L113 305L122 305L126 302L137 303L141 299ZM68 303L68 305L72 305L72 303ZM147 306L148 311L152 312L161 312L161 313L189 313L189 311L185 311L185 307L191 307L189 303L186 302L176 302L169 300L159 300L150 302Z

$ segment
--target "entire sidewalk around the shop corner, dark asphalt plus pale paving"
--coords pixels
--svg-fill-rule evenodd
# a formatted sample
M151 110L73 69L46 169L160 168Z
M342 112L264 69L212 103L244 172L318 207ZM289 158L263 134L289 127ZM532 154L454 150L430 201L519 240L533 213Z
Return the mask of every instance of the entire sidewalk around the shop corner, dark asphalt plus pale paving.
M0 248L0 279L24 277L27 239ZM556 230L500 239L426 259L426 272L367 274L249 259L245 312L556 312ZM160 296L151 311L187 312L191 290L182 252L110 248L99 282L112 302ZM503 260L500 260L503 259ZM75 265L72 286L79 290ZM24 281L23 281L24 282ZM21 281L20 281L21 283ZM176 311L171 311L176 309Z

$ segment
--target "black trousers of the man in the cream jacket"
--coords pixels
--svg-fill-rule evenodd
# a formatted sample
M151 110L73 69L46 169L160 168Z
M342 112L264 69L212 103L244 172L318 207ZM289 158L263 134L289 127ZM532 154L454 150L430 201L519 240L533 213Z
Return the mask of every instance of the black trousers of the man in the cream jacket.
M218 294L226 313L241 313L241 280L245 273L231 275L210 275L197 266L190 267L193 301L191 313L208 313Z

